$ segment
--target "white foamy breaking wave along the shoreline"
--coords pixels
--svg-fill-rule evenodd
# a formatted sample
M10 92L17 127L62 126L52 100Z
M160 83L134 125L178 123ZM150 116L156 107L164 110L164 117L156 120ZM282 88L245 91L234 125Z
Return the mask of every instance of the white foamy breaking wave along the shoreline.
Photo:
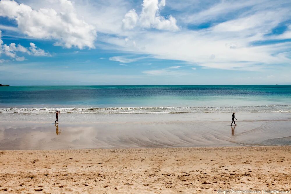
M197 107L108 107L108 108L0 108L0 113L230 113L230 112L291 112L291 105L266 106L197 106Z

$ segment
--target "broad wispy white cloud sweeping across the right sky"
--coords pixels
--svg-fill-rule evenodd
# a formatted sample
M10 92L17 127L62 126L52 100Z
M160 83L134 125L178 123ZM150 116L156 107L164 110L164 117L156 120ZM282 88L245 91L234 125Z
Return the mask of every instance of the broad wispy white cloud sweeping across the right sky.
M242 11L220 23L212 23L213 26L207 29L183 28L174 33L132 32L129 38L135 40L134 48L124 44L121 38L108 38L105 41L119 46L123 51L148 54L159 59L181 60L206 68L261 71L291 63L290 42L256 44L290 36L291 28L281 35L269 35L273 29L291 18L291 12L284 1L267 1L264 6L261 6L260 0L247 3L239 1L235 7L229 3L225 5L224 9L220 7L214 12L211 18L225 13L224 10L229 13L238 9ZM209 8L204 11L209 11L211 15L211 10ZM203 22L204 20L201 24Z

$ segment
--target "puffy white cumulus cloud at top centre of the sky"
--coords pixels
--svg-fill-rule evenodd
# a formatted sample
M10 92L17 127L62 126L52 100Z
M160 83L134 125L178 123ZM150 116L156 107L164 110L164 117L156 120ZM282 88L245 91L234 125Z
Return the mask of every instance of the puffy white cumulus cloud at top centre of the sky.
M135 26L142 28L155 28L158 30L177 31L179 27L176 19L169 15L165 18L159 14L159 10L166 5L165 0L143 0L143 8L138 15L136 10L129 10L125 14L123 22L124 29L133 29Z

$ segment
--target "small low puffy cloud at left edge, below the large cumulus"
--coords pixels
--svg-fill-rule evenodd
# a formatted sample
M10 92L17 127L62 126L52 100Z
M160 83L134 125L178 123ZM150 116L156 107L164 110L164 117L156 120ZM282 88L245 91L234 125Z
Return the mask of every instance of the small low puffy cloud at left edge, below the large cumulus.
M1 31L0 31L0 54L14 58L17 61L23 61L25 58L17 56L17 52L26 53L32 56L51 56L48 52L45 52L43 49L38 48L34 43L30 43L30 47L26 48L22 45L15 43L10 43L10 45L3 44L3 40L1 39Z

